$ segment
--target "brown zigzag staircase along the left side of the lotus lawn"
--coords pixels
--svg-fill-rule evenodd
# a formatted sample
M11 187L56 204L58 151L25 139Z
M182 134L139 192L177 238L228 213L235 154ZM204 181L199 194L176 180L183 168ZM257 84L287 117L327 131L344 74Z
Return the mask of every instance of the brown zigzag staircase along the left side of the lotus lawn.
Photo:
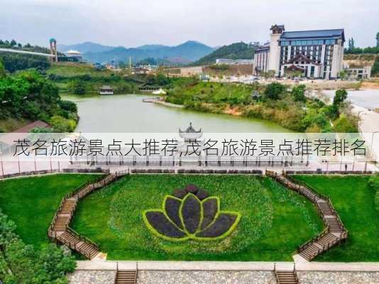
M70 228L70 222L77 208L79 200L89 195L94 190L109 185L117 178L126 175L126 172L106 175L101 180L89 183L83 187L79 187L74 192L66 195L60 207L55 212L53 222L48 229L48 236L60 244L65 244L73 251L81 253L86 258L92 259L99 254L99 246L85 236L79 235L76 231Z

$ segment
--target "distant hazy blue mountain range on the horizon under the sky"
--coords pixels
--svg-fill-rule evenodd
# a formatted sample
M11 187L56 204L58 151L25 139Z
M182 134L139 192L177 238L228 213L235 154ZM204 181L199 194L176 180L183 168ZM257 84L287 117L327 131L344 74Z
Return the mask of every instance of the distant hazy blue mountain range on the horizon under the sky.
M141 61L145 58L175 58L175 62L189 62L198 60L199 58L212 53L214 49L198 43L197 41L187 41L177 46L165 45L143 45L140 48L113 48L111 50L101 52L84 53L84 58L90 62L110 62L112 60L118 62L127 62L131 57L133 62Z

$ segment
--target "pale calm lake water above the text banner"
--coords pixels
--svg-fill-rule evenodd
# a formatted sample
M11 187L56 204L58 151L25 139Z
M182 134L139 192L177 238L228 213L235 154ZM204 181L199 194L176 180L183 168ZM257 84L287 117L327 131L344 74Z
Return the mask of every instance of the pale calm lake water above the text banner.
M98 97L62 96L77 103L79 124L75 131L108 133L177 132L189 122L204 132L290 132L261 119L226 114L207 114L142 102L146 95L125 94Z

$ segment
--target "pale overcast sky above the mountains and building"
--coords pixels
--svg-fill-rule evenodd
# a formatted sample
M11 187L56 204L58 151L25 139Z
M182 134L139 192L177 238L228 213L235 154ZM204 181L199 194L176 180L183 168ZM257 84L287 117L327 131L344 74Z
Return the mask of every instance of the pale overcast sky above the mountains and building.
M92 41L136 47L197 40L210 46L269 39L286 31L345 28L356 46L375 45L379 0L0 0L0 38L47 46Z

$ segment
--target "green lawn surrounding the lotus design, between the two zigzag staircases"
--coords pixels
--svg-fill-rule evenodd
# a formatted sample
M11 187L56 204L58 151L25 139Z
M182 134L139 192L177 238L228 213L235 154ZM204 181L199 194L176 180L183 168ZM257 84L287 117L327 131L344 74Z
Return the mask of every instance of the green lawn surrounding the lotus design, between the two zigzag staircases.
M234 233L220 241L171 242L148 231L143 210L161 208L165 195L189 183L219 197L221 210L241 213ZM131 175L82 200L72 226L117 260L290 261L322 231L310 202L248 175Z

